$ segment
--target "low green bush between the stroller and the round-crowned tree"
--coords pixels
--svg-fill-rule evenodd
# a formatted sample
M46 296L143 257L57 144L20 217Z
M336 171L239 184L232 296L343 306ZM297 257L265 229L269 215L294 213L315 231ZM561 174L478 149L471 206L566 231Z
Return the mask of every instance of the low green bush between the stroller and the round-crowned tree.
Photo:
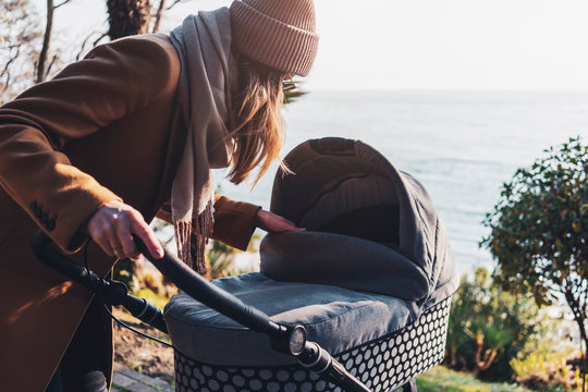
M510 360L536 339L539 309L529 296L503 292L486 268L462 279L448 332L446 363L481 378L507 381Z

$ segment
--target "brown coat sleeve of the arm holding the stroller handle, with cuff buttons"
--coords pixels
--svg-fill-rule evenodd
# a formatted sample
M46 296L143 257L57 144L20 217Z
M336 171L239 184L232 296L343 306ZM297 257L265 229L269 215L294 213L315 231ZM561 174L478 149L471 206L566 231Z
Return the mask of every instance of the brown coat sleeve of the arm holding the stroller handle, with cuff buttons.
M63 250L75 249L74 235L96 209L121 198L61 149L176 88L171 68L157 39L121 39L0 108L0 185Z

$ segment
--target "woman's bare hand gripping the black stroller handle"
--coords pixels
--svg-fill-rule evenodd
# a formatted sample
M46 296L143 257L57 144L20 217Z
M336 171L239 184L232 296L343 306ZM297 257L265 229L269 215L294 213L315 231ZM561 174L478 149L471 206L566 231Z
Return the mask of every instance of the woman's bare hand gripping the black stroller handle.
M151 255L163 257L163 247L140 212L124 203L112 200L98 208L87 228L94 242L109 256L137 258L140 253L133 241L136 234Z

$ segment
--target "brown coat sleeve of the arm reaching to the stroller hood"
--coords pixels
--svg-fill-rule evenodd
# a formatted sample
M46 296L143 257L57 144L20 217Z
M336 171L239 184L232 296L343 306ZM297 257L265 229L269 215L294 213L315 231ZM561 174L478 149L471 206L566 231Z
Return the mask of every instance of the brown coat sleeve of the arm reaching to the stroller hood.
M235 201L217 195L215 197L212 238L234 248L246 250L255 231L255 217L260 208L253 204ZM157 218L172 223L169 203L161 207Z

